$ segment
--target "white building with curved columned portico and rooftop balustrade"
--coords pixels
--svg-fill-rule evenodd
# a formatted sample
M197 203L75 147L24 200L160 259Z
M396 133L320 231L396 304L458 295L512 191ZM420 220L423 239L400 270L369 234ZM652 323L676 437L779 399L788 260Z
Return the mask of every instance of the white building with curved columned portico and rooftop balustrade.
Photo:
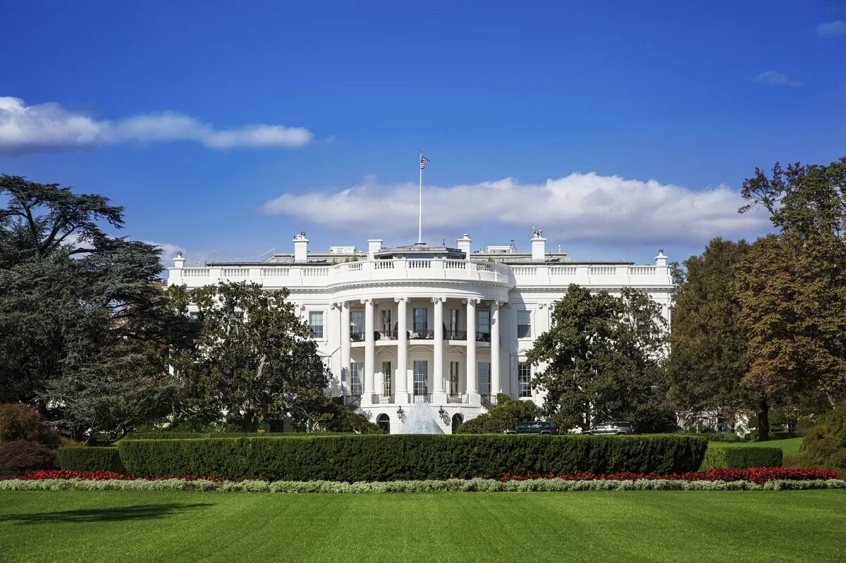
M294 254L261 262L185 267L180 255L168 285L287 287L332 372L330 394L391 433L404 431L412 407L431 409L448 434L486 412L497 393L540 402L526 353L570 284L612 294L638 288L670 321L673 281L663 252L654 264L634 265L547 252L541 232L528 253L514 244L473 252L471 243L466 234L455 247L383 248L369 240L366 253L333 246L318 254L303 232Z

